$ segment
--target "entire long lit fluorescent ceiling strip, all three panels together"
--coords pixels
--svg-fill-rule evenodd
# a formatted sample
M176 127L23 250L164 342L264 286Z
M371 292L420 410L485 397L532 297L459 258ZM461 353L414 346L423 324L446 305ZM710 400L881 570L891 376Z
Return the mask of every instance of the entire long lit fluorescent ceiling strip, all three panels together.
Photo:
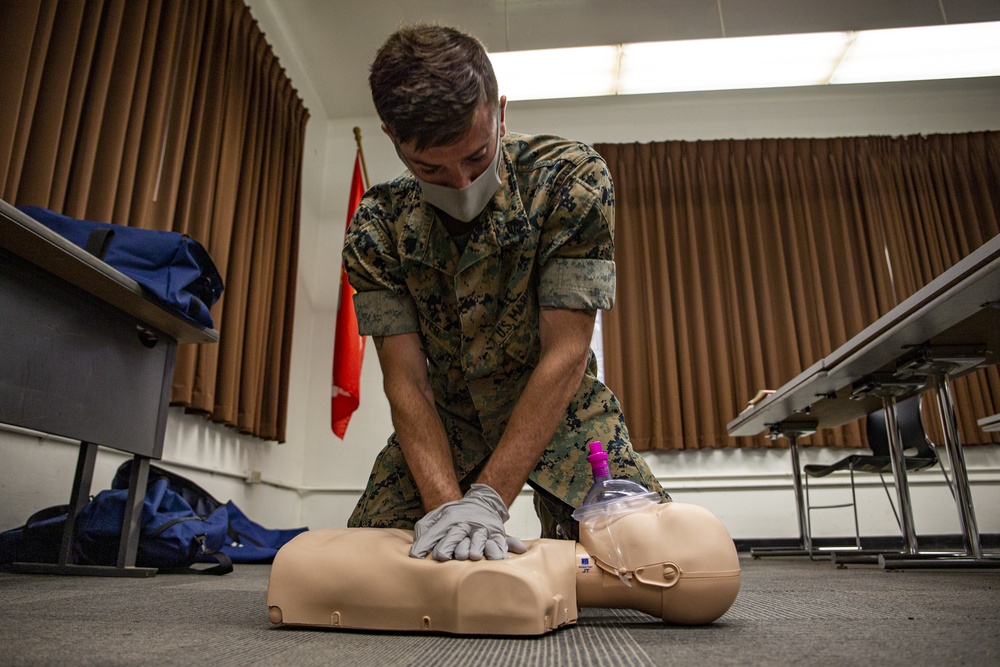
M510 100L1000 76L1000 22L491 53Z

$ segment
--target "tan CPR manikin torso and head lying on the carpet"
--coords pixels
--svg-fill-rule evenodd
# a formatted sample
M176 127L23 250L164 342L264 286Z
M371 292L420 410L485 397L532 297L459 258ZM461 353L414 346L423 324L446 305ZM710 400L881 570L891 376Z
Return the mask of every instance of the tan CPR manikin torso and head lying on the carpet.
M636 609L668 623L711 623L740 587L722 522L684 503L650 505L580 542L528 540L499 561L409 556L411 531L332 528L302 533L274 559L272 623L326 628L540 635L576 623L580 607ZM614 551L614 542L618 551ZM597 554L625 555L622 575ZM618 563L622 561L618 559Z

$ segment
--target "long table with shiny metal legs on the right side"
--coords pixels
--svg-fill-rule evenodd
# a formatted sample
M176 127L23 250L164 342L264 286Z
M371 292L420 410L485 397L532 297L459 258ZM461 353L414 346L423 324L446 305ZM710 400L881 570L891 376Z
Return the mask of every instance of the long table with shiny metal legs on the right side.
M977 367L1000 362L998 303L1000 236L728 424L731 436L757 435L768 430L774 437L788 437L792 452L800 548L757 549L754 555L828 553L818 551L809 541L796 439L817 429L841 426L883 407L890 429L903 549L892 553L834 553L835 562L878 562L886 569L1000 567L1000 556L984 554L982 550L950 388L952 379ZM974 352L970 353L970 349ZM877 381L872 383L872 377ZM868 390L859 392L856 385L865 382L869 383ZM906 388L895 386L897 382ZM901 392L912 394L923 390L934 391L944 427L956 509L965 541L962 553L922 552L917 543L896 428L895 401L902 397Z

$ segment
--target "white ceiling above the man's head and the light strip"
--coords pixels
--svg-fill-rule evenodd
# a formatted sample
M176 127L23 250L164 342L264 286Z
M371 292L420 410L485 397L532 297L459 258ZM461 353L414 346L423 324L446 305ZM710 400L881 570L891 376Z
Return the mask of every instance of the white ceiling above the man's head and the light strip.
M491 51L1000 20L998 0L248 0L292 45L322 109L369 116L368 66L399 25L463 29ZM297 82L303 85L305 82ZM502 91L501 91L502 92Z

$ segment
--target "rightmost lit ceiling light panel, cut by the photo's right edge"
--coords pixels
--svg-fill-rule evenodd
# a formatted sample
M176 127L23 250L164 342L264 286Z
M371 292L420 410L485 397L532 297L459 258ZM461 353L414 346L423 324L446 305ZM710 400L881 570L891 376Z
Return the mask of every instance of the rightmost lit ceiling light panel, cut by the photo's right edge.
M830 83L997 75L1000 23L965 23L858 32Z

